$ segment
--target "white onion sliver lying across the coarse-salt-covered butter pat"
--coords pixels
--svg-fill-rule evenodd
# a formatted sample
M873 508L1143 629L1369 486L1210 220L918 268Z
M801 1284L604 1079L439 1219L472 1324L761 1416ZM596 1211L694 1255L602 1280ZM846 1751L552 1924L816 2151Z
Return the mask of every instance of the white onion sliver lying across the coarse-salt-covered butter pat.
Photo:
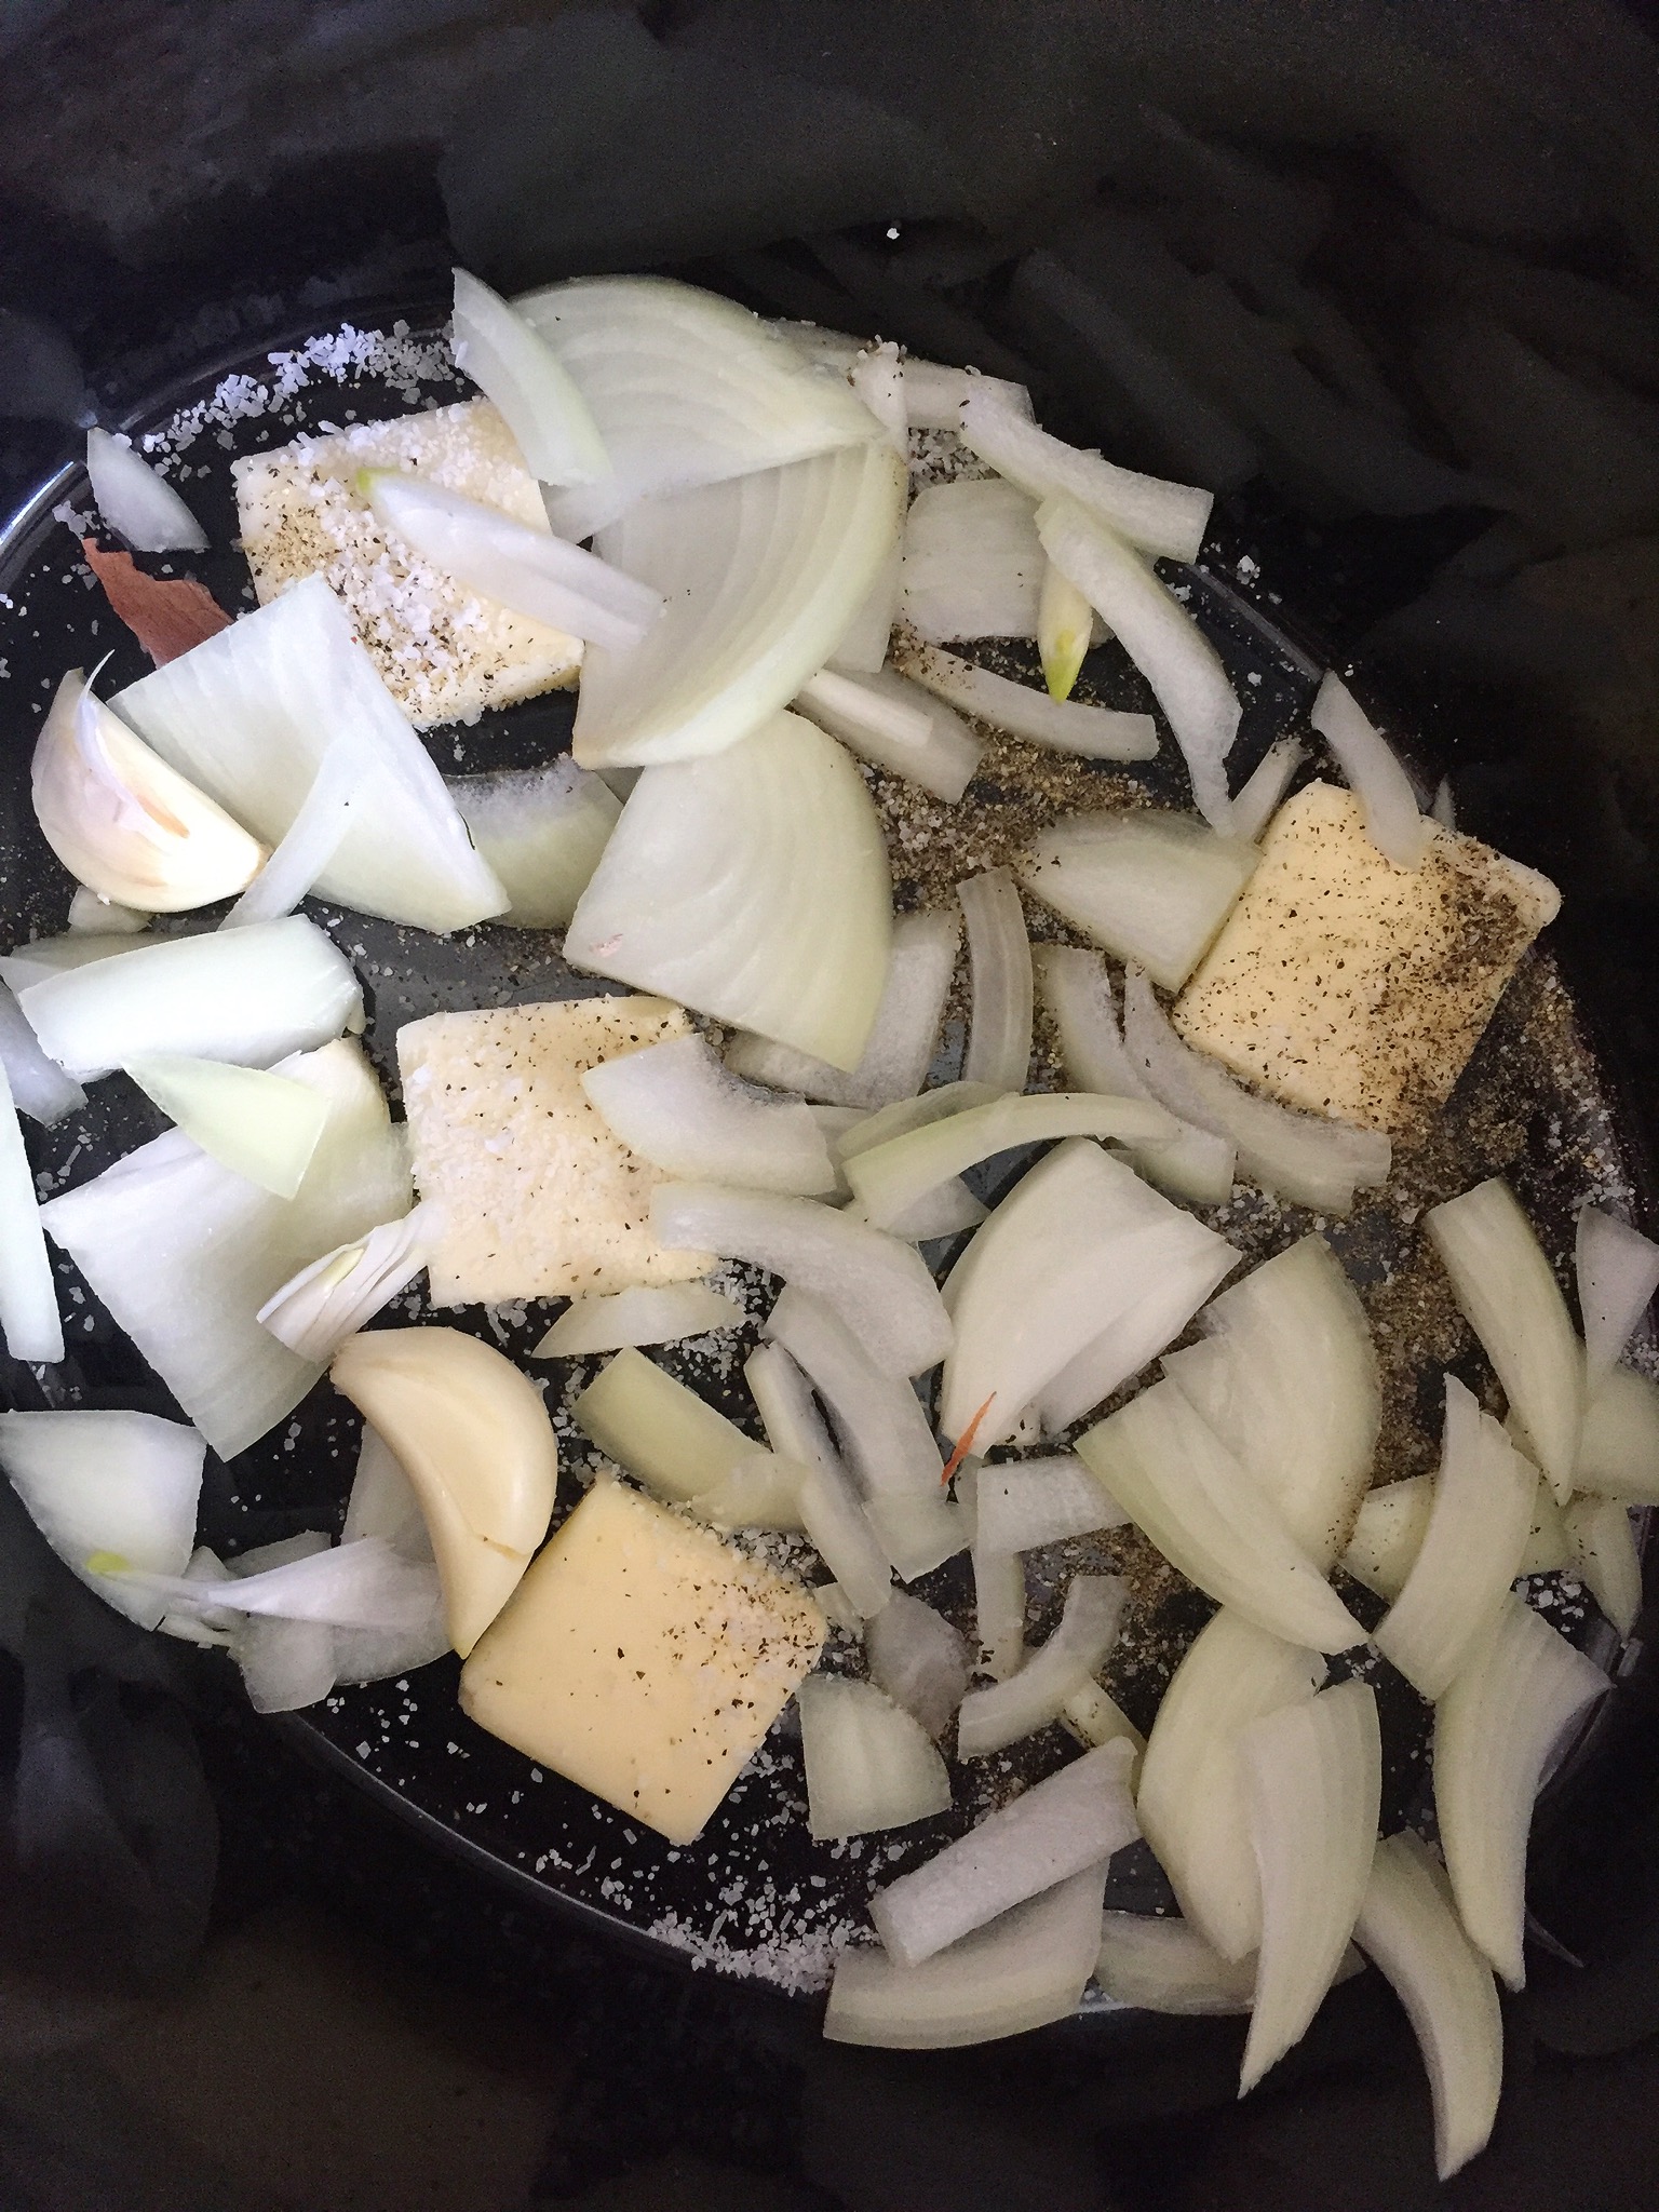
M661 617L659 591L566 538L531 529L500 507L467 500L405 469L369 469L365 476L369 511L380 529L495 606L611 653L639 646Z

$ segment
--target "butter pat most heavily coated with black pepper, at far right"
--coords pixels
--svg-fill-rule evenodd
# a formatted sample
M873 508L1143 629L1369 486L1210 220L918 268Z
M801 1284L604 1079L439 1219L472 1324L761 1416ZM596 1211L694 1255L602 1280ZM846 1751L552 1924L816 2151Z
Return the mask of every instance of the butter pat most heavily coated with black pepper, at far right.
M1175 1026L1290 1106L1400 1130L1442 1106L1562 894L1436 827L1422 867L1385 860L1360 803L1310 783L1175 1006Z

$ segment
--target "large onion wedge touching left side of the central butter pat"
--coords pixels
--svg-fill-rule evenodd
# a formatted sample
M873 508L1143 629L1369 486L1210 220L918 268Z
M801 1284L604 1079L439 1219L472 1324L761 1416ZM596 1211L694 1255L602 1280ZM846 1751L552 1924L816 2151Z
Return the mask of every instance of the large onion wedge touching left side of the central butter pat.
M367 1237L409 1208L409 1164L363 1053L327 1044L276 1073L316 1088L330 1108L296 1197L270 1197L168 1130L40 1210L226 1460L292 1411L319 1376L316 1363L261 1329L259 1310L319 1250Z

